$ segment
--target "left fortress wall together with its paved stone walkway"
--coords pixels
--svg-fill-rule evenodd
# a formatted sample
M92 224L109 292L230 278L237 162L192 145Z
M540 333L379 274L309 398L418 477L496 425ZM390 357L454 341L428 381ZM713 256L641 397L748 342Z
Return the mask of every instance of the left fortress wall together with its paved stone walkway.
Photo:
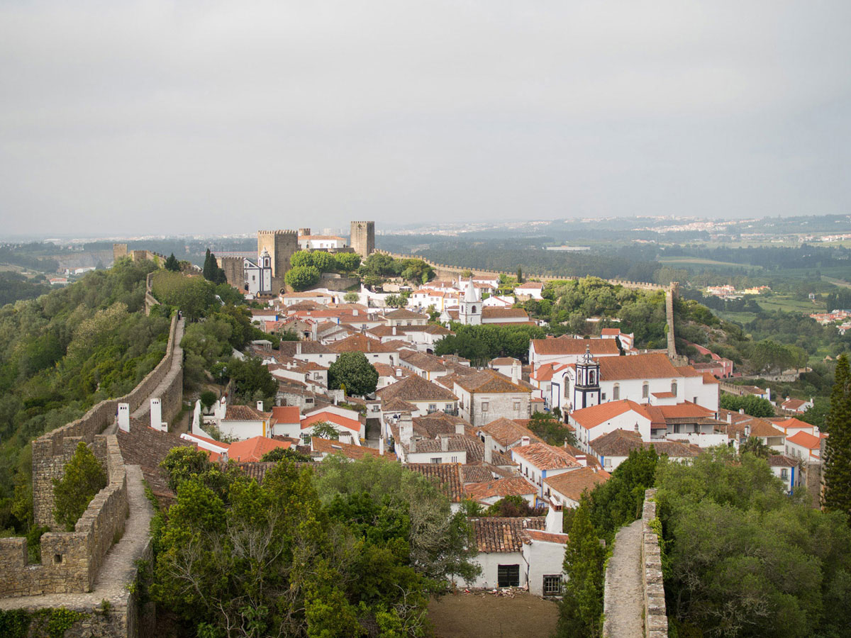
M138 600L128 586L137 578L136 561L151 557L152 506L140 466L124 463L115 415L119 403L128 403L134 419L145 419L155 397L161 400L164 419L180 412L183 328L183 320L174 316L163 360L128 395L100 402L81 419L32 442L37 524L60 528L53 520L53 479L63 476L79 441L105 465L108 484L92 499L73 532L43 534L41 564L27 564L26 538L0 538L0 609L66 607L80 612L66 638L150 635L152 605ZM109 603L106 609L103 601Z

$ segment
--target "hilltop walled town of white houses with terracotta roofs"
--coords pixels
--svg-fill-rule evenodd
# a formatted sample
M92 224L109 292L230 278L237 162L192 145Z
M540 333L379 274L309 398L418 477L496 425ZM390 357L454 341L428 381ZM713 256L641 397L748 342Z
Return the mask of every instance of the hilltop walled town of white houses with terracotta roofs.
M671 485L695 480L678 473L744 464L805 510L824 498L827 436L798 418L813 402L733 383L732 360L678 338L676 282L437 264L377 250L372 221L258 231L203 269L116 244L87 277L133 269L162 358L31 441L38 533L0 538L0 628L26 627L6 635L426 635L431 595L562 601L567 630L597 583L589 635L660 638L660 519L670 533ZM589 285L658 300L663 336L599 316L556 335L528 310ZM69 519L86 459L102 487ZM297 573L319 555L334 584Z

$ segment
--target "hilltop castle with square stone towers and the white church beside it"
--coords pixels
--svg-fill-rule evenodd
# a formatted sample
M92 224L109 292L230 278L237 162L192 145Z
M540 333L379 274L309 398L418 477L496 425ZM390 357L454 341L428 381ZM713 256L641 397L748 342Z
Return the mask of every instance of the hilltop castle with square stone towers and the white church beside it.
M331 235L311 235L310 228L298 231L257 231L257 257L220 257L219 267L227 282L254 295L286 292L284 277L289 260L299 250L328 253L358 253L366 259L375 250L375 222L351 222L350 245Z

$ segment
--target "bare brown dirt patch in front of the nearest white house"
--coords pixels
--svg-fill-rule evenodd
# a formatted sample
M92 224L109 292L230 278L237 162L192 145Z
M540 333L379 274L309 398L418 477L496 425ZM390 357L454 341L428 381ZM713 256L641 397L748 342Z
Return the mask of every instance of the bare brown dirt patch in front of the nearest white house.
M556 629L558 605L524 592L461 592L431 601L428 617L436 638L546 638Z

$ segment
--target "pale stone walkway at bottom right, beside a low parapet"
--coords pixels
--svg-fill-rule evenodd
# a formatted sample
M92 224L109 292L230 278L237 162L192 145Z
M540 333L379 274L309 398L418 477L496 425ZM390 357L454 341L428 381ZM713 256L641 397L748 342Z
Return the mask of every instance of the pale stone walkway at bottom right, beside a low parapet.
M606 569L603 601L605 638L641 638L644 635L642 611L642 521L620 528L614 536L614 551Z

